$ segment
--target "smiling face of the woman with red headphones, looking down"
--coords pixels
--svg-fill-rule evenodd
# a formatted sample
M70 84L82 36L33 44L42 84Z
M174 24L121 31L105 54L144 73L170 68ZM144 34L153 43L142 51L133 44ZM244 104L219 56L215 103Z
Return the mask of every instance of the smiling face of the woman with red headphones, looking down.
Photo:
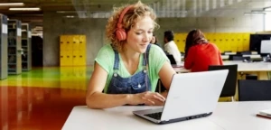
M139 18L127 32L126 51L144 53L153 38L154 21L150 16Z

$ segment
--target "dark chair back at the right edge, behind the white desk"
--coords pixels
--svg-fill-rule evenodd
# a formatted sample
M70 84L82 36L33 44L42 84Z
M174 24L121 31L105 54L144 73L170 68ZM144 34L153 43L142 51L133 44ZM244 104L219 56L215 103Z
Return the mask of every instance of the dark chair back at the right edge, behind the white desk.
M271 80L238 79L239 101L271 100Z

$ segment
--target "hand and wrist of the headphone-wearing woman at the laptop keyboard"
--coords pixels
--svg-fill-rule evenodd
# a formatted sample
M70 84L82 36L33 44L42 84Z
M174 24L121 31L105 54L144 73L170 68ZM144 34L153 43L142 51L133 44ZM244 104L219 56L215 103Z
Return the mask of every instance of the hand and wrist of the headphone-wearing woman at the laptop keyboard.
M164 101L165 98L161 94L150 91L131 95L129 98L130 105L145 104L149 106L162 106L164 105Z

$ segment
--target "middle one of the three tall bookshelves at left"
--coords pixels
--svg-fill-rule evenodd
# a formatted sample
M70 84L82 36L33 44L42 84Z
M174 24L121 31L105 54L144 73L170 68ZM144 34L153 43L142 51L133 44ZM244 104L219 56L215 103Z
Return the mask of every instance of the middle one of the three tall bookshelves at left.
M22 73L21 21L8 20L8 74Z

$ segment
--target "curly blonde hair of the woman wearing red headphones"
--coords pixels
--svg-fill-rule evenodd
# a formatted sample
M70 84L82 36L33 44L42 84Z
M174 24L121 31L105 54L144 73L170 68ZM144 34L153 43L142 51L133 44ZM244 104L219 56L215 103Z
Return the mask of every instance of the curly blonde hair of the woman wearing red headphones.
M116 30L119 16L127 6L128 5L124 5L114 8L113 14L108 18L106 27L107 40L112 43L114 49L117 51L124 51L124 43L126 41L117 40ZM124 15L122 20L123 29L128 32L138 20L138 18L144 17L146 15L150 16L151 19L154 20L154 27L159 27L159 25L155 23L156 14L154 14L154 10L148 5L138 1L135 5L132 5L132 7Z

